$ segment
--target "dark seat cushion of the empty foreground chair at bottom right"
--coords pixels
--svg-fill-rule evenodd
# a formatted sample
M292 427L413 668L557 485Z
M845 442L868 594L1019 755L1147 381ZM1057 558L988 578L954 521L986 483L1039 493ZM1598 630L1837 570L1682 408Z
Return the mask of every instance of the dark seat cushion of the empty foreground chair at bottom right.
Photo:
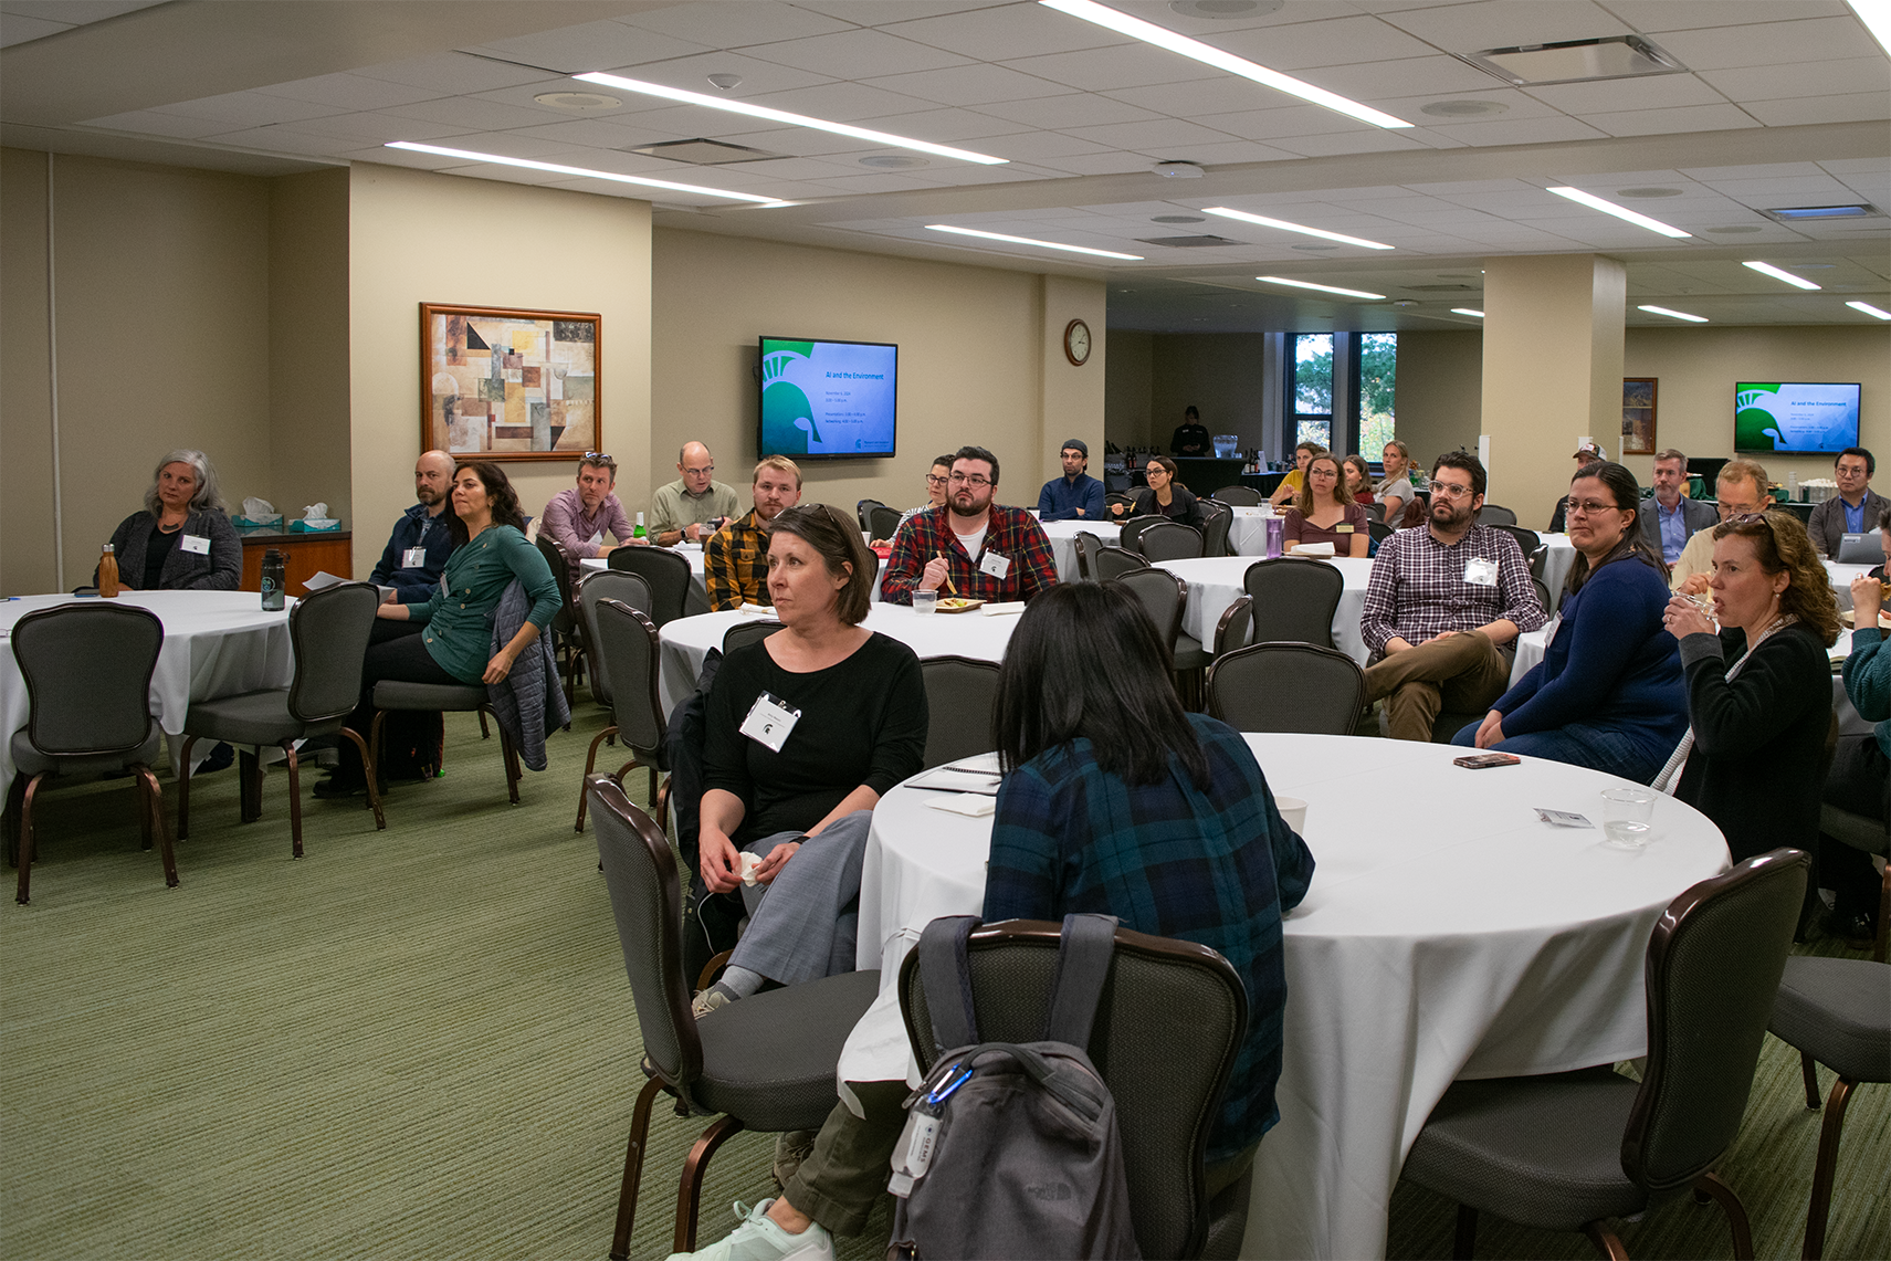
M1607 1068L1458 1081L1426 1119L1405 1176L1460 1204L1543 1231L1647 1208L1622 1172L1641 1087Z

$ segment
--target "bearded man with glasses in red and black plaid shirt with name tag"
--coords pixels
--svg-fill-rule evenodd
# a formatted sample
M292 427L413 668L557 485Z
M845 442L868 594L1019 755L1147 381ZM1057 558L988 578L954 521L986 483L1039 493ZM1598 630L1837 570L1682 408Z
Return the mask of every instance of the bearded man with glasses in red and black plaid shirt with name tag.
M998 458L983 446L953 454L946 503L900 526L893 560L879 584L889 605L913 603L913 590L970 599L1031 599L1057 584L1057 558L1044 527L1023 509L991 499L998 488Z

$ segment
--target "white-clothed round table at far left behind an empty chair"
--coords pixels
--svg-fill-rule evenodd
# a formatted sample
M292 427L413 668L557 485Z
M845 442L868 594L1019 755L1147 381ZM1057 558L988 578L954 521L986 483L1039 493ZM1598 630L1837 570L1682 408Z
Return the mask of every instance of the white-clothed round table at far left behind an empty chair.
M13 660L13 624L38 609L95 603L96 597L23 596L0 603L0 792L13 783L13 732L32 709L26 679ZM151 671L151 715L170 737L172 771L191 701L286 688L295 675L289 613L265 613L255 592L125 592L113 603L149 609L165 624L165 647Z

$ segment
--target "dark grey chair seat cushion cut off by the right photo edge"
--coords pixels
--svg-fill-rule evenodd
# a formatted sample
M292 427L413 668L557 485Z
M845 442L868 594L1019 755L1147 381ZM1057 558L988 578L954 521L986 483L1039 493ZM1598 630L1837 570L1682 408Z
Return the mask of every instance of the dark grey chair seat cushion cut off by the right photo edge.
M1891 1081L1891 968L1787 959L1768 1028L1842 1078Z

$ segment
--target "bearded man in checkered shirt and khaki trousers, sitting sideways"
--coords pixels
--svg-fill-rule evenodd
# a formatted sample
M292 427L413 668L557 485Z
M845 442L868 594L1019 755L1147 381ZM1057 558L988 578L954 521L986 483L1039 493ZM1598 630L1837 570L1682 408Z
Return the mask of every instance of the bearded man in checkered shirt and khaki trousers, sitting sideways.
M1394 739L1431 739L1445 709L1488 711L1511 682L1517 635L1549 620L1517 539L1475 524L1483 507L1477 456L1439 456L1424 527L1379 544L1360 633L1375 658L1367 700L1386 698Z

